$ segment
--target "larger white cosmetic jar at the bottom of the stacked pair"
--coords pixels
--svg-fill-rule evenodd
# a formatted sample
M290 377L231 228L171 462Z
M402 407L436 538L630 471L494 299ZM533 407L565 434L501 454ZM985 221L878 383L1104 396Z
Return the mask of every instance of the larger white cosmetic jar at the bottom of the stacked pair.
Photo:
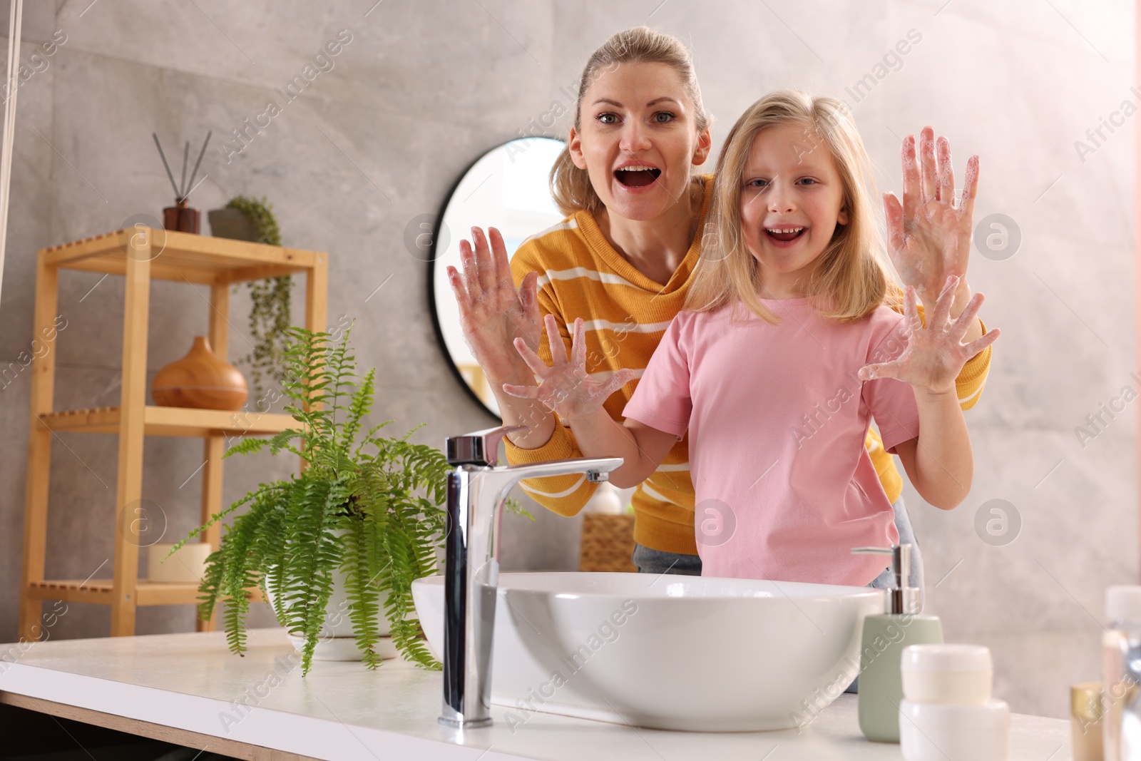
M899 702L899 750L906 761L1008 761L1010 707Z

